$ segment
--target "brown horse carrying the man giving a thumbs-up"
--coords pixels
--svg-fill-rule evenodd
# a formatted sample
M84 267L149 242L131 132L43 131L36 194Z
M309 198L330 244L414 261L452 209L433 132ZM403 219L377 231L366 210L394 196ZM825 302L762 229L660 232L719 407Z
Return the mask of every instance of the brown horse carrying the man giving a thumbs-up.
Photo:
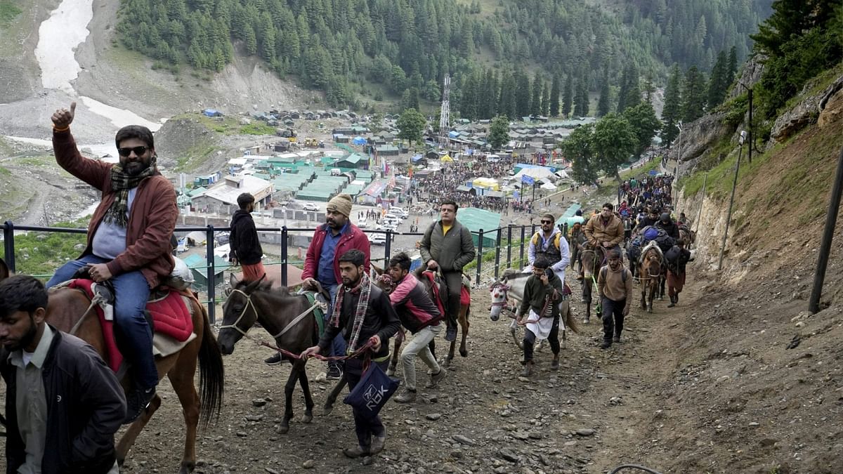
M0 259L0 279L8 277L6 262ZM91 300L83 291L74 288L51 288L46 321L59 331L72 334L88 342L106 358L105 337L99 318L94 311L89 310ZM196 298L189 298L193 320L193 331L196 335L191 342L177 353L163 358L156 358L155 365L158 375L169 378L176 396L179 397L182 412L185 417L185 450L181 459L180 474L193 472L196 467L196 427L200 421L202 427L207 427L212 418L219 417L223 403L224 366L223 358L217 347L216 338L211 331L207 311ZM194 375L196 361L199 362L199 394L196 393ZM130 380L124 376L121 380L123 389L129 388ZM116 458L122 466L126 455L135 443L137 435L153 417L161 406L161 396L155 394L149 406L140 417L123 434L116 446Z

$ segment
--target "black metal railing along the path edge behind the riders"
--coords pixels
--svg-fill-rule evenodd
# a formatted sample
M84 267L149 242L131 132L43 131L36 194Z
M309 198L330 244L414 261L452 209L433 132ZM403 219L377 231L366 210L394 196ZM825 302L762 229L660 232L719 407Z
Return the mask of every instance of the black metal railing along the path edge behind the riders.
M6 265L9 268L9 271L14 272L16 265L15 265L15 246L14 246L14 232L15 231L29 231L29 232L57 232L57 233L65 233L65 234L86 234L87 229L70 229L64 227L44 227L44 226L33 226L33 225L21 225L16 226L11 221L6 221L3 225L3 257L6 261ZM502 264L505 264L506 267L504 269L513 267L521 268L524 267L524 263L527 261L526 256L524 255L525 247L529 246L529 238L531 238L539 229L537 224L532 225L507 225L506 227L499 227L497 229L480 229L478 232L472 232L477 236L477 245L476 245L476 257L474 262L474 273L475 273L475 284L480 284L481 282L481 272L483 268L484 261L494 261L494 277L497 279L501 276L501 267ZM201 226L181 226L176 227L175 232L204 232L205 233L205 245L206 245L206 266L204 267L207 270L207 299L203 302L207 304L208 315L211 319L211 322L216 322L216 308L215 305L217 304L217 294L216 294L216 286L218 283L216 280L216 269L214 263L214 234L217 232L228 232L230 231L230 227L214 227L213 225L207 225L205 227ZM368 229L361 229L366 234L384 234L386 237L386 242L384 243L384 254L383 257L376 257L375 248L374 246L370 247L371 250L371 261L384 261L384 266L386 262L389 261L389 257L392 253L392 240L394 236L397 235L416 235L421 238L424 234L421 232L392 232L389 230L368 230ZM562 232L567 235L567 225L562 226ZM266 232L276 232L281 233L281 260L278 261L278 265L281 265L281 283L284 286L287 286L288 276L287 276L287 265L295 264L295 263L303 263L302 261L291 261L289 256L289 238L290 233L313 233L314 228L288 228L287 226L282 227L260 227L257 228L258 232L266 233ZM529 234L528 234L529 231ZM506 232L506 239L503 238L503 234ZM494 233L495 243L493 247L489 248L488 246L484 245L484 240L486 235ZM513 235L515 239L513 239ZM518 248L518 258L513 259L513 248ZM506 248L506 259L502 260L502 249ZM265 265L266 262L265 262ZM274 265L274 264L272 264ZM191 269L198 269L202 267L191 267Z

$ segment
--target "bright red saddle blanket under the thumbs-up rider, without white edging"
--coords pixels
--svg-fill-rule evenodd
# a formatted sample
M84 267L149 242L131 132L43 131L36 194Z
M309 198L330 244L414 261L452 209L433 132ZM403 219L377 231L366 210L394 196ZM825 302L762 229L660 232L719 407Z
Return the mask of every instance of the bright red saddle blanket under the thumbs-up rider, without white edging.
M77 278L67 286L68 288L82 289L89 298L93 298L94 294L91 290L93 283L91 280ZM152 315L156 333L172 337L178 342L185 342L193 333L193 319L190 310L185 305L185 300L181 296L182 294L175 289L169 289L164 298L149 300L147 311ZM107 362L109 367L116 372L123 362L123 355L120 353L114 338L114 321L105 320L105 313L99 304L96 305L96 309L99 316L99 326L103 329Z

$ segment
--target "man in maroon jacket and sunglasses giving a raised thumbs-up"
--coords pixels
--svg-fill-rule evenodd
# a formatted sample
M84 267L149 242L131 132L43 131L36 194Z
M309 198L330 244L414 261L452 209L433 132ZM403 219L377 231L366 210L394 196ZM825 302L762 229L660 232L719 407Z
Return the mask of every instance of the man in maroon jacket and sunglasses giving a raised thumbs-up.
M179 208L173 185L158 172L153 134L147 127L130 125L117 131L120 163L105 163L79 154L70 133L75 111L73 102L70 110L56 110L51 117L56 162L102 192L102 200L88 225L82 256L59 268L47 287L69 280L83 267L94 282L113 284L114 322L134 376L134 390L126 396L130 423L148 407L158 385L153 335L144 310L150 288L175 266L170 237Z

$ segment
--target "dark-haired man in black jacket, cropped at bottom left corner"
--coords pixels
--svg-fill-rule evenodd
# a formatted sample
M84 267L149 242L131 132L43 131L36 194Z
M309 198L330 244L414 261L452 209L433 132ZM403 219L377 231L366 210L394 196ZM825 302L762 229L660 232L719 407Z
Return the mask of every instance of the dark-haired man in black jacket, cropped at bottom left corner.
M46 307L34 277L0 283L7 472L116 474L126 397L93 347L46 324Z

